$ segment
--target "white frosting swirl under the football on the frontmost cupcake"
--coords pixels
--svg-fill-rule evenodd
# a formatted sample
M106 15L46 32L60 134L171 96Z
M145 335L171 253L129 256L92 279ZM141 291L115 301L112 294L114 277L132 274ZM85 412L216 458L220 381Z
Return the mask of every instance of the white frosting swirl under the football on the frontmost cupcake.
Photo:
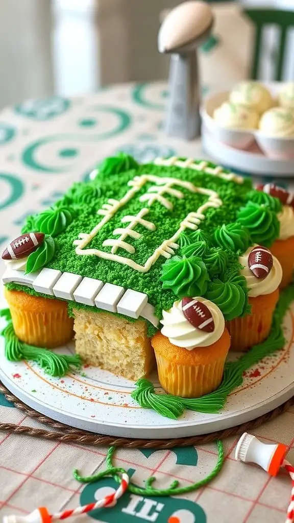
M168 311L162 311L163 319L161 323L163 327L161 333L173 345L187 350L212 345L217 342L224 331L224 317L218 306L205 298L197 297L193 299L204 303L210 310L214 321L213 332L201 331L188 322L182 311L182 300L175 301L172 308Z

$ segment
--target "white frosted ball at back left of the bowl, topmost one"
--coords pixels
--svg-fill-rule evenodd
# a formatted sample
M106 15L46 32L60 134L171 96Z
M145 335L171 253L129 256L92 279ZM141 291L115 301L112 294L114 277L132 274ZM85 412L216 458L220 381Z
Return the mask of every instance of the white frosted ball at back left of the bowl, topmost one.
M269 90L258 82L241 82L230 93L233 104L242 104L254 109L259 114L273 107L273 98Z

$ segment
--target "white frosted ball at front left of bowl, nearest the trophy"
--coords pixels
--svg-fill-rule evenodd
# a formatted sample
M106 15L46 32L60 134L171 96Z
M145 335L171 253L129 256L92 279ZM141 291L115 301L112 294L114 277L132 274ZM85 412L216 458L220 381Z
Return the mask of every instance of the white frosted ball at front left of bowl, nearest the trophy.
M214 109L213 118L221 126L228 129L257 129L259 120L256 111L228 101Z

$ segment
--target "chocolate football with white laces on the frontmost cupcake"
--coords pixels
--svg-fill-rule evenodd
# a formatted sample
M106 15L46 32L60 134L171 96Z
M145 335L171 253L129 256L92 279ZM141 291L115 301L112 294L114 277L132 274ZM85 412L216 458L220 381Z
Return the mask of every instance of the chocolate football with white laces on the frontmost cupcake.
M200 331L213 332L214 321L208 307L194 298L183 298L182 311L188 322Z

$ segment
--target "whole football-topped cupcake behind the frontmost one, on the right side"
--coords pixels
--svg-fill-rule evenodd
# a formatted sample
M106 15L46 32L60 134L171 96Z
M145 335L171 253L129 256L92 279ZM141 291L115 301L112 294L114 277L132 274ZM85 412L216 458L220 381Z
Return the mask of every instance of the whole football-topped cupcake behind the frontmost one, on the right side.
M273 313L279 299L282 268L266 247L255 245L239 257L241 275L248 288L251 313L227 322L231 350L244 352L269 335Z

